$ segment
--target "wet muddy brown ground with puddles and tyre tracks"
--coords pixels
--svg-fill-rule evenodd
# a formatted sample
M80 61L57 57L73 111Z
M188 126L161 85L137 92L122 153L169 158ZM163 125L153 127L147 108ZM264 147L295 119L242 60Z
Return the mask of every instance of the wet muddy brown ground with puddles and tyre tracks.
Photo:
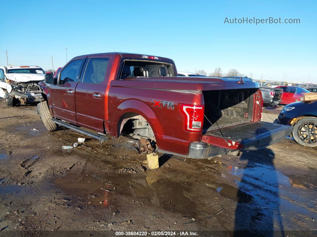
M290 137L240 157L160 154L156 170L126 137L61 149L78 137L49 133L34 106L0 100L0 235L316 234L317 149Z

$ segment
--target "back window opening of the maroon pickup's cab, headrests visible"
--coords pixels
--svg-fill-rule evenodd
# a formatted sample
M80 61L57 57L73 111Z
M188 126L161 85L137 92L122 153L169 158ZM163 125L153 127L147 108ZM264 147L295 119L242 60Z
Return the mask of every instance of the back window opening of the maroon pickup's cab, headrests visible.
M174 66L168 62L124 59L119 79L136 77L175 77L175 70Z

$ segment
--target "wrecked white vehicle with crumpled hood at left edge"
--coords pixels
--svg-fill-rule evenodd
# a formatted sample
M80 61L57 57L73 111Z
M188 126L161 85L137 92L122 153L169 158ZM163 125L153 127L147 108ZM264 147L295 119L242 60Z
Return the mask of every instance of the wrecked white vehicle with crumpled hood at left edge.
M39 66L0 67L0 97L7 100L9 107L41 102L42 90L38 83L44 79L45 72Z

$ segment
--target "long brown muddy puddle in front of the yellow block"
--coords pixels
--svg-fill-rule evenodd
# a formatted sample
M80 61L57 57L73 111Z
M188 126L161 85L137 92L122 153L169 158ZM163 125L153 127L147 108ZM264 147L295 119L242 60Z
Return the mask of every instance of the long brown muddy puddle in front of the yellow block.
M61 189L87 197L87 200L94 205L107 206L111 203L113 188L116 188L116 193L147 200L166 210L177 211L185 215L195 214L194 202L184 196L184 190L178 183L158 180L151 172L142 175L120 174L107 181L97 176L70 174L55 179L54 183ZM96 196L100 189L103 195Z

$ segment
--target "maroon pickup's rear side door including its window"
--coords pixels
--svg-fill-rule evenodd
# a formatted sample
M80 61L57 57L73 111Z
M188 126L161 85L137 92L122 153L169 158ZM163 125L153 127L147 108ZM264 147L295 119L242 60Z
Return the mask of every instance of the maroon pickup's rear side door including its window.
M94 55L87 58L75 90L77 124L104 132L105 89L112 56Z

